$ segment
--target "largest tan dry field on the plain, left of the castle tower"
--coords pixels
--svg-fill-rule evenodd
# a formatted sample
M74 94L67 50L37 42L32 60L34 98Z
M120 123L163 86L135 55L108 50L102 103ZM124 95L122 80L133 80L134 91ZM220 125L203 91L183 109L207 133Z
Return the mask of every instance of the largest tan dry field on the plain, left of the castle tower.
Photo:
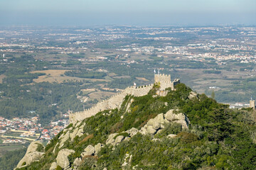
M109 81L106 79L82 79L82 78L78 78L78 77L68 77L65 76L64 73L67 72L69 70L65 70L65 69L48 69L48 70L41 70L41 71L33 71L31 73L46 73L46 75L44 76L40 76L38 77L38 79L33 79L34 82L36 83L41 83L43 81L46 82L57 82L57 83L62 83L63 81Z

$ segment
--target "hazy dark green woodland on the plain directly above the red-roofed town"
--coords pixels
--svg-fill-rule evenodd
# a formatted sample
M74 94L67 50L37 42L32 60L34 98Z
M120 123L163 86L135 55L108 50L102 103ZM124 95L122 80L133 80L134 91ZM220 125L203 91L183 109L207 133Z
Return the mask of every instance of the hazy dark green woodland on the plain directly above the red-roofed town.
M4 91L0 101L1 116L14 118L39 115L41 123L48 123L58 111L65 113L69 108L73 111L80 111L82 103L75 94L82 86L78 87L78 84L80 83L43 82L26 86L0 84L1 91ZM59 107L52 106L53 103L57 103Z

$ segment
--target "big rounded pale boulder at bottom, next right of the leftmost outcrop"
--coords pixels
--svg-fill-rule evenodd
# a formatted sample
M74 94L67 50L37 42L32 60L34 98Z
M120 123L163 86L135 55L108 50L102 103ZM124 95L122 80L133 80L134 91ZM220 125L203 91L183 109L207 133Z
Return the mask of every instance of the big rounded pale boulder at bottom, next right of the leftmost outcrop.
M56 158L57 164L61 168L67 169L70 166L68 156L73 153L75 153L73 149L61 149L60 152L58 152L58 155Z

